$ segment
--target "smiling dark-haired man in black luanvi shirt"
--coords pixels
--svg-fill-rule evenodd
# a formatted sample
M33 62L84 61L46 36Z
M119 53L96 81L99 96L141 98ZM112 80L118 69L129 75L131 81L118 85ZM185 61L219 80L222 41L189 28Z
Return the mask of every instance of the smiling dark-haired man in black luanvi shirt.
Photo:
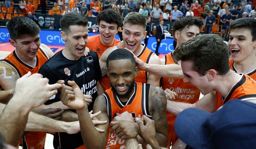
M49 79L49 84L58 80L75 80L85 95L89 95L92 103L88 106L92 110L93 103L98 95L103 93L99 80L101 78L98 55L91 51L83 56L87 44L88 21L85 16L77 12L68 12L60 19L60 32L65 41L65 48L56 53L39 70L39 73ZM52 96L45 104L60 101L60 91ZM74 110L65 110L68 113L61 120L77 121ZM84 148L81 133L67 134L65 132L54 135L54 148Z

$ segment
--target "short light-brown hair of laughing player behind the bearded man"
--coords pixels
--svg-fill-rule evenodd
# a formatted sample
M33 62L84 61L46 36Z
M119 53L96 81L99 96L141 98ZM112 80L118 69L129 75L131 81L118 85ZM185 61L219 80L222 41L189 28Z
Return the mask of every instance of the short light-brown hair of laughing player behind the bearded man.
M124 18L124 24L125 23L130 23L131 25L141 25L144 29L144 32L146 31L147 20L142 14L138 12L128 13Z

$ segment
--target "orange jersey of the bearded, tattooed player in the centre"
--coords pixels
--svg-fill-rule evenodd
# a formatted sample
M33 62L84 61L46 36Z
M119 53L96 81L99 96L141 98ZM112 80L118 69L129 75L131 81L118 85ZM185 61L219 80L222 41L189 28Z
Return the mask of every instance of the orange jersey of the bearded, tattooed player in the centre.
M149 87L149 84L135 82L134 92L126 103L122 103L116 94L112 92L112 89L106 90L103 95L107 103L109 122L111 122L117 112L123 113L125 111L132 113L134 120L139 114L141 116L146 115L148 117L152 117L148 110ZM109 132L110 129L111 126L109 126ZM112 134L109 133L106 148L107 147L110 147L111 149L123 149L124 140L117 137L116 133L114 132Z

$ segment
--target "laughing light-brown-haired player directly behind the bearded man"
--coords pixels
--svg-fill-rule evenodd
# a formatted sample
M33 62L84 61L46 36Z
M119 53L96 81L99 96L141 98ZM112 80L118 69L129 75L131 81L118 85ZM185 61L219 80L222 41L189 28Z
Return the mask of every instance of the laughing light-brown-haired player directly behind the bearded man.
M147 20L137 12L131 12L124 18L123 28L123 42L124 47L131 50L140 60L148 64L160 64L159 57L145 44L141 43L145 39ZM100 57L101 69L106 69L106 59L113 50L117 47L113 46L106 50ZM135 82L148 83L154 86L159 86L160 77L148 74L146 71L139 71L138 75L134 78Z

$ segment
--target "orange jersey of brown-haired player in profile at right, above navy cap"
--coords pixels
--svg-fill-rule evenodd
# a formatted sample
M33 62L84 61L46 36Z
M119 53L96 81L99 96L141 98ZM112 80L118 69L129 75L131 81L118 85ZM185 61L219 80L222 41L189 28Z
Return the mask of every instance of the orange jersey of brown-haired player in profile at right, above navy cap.
M226 97L216 92L216 110L232 99L256 99L256 82L249 75L243 73L239 75L241 75L241 78L232 86Z

